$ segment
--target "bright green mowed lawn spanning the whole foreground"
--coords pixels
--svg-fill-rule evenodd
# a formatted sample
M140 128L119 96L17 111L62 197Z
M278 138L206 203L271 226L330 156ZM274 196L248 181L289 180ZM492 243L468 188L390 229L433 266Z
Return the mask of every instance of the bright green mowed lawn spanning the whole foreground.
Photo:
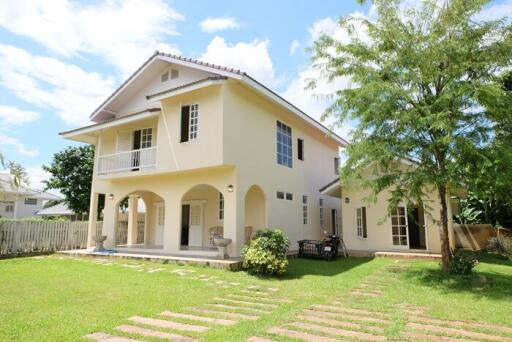
M130 267L120 266L120 263ZM475 275L466 278L443 275L437 263L431 261L412 260L407 262L407 267L389 270L387 267L395 262L383 258L348 258L334 262L291 259L289 270L281 279L145 261L111 259L109 264L105 267L99 260L59 259L58 256L0 260L0 341L77 341L92 333L157 340L143 334L116 330L122 325L190 335L190 338L202 341L245 341L251 336L274 341L299 338L281 334L284 332L301 334L296 336L305 338L320 336L325 341L336 339L334 335L321 331L290 326L290 322L297 322L298 315L377 327L375 331L361 331L388 339L405 336L409 315L447 322L415 321L417 324L467 329L499 336L501 340L512 338L512 263L491 255L482 255ZM140 272L140 269L164 270L148 273ZM180 274L215 280L189 279ZM372 288L372 282L377 280L381 286ZM215 281L237 285L223 288L215 286ZM366 284L365 290L381 291L382 296L368 296L364 302L352 298L355 296L350 292L360 288L361 283ZM226 301L217 303L213 297L276 307L228 304ZM260 311L255 311L258 309ZM231 320L236 324L223 326L197 322L191 325L209 329L180 334L172 329L167 331L128 320L134 316L182 320L178 317L164 319L160 313L166 310ZM455 321L467 322L468 325L449 324ZM352 329L326 322L308 324L321 326L321 329ZM502 328L493 330L493 326ZM384 332L379 328L384 328ZM458 333L445 335L429 330L411 333L441 339L445 336L471 339ZM357 337L344 338L351 340Z

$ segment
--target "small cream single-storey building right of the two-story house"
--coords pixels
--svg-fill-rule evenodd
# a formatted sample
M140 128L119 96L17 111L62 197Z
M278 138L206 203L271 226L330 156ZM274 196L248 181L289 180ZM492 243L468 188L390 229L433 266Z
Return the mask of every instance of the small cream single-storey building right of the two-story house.
M372 173L373 170L367 170L363 177L371 179ZM425 191L423 205L404 201L391 214L389 190L382 191L375 201L369 201L369 189L357 186L354 181L341 184L335 179L322 187L320 193L341 199L343 239L352 255L397 251L441 253L440 201L434 189ZM448 193L446 200L450 242L454 247L454 234L459 229L454 230L453 215L458 213L459 203L452 195Z

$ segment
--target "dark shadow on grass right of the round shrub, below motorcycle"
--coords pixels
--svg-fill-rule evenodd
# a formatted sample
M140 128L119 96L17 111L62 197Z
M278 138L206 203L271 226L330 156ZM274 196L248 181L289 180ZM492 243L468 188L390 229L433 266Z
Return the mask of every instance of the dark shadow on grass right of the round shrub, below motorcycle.
M333 277L366 264L373 258L339 258L335 261L322 259L290 259L288 270L281 279L300 279L306 275Z

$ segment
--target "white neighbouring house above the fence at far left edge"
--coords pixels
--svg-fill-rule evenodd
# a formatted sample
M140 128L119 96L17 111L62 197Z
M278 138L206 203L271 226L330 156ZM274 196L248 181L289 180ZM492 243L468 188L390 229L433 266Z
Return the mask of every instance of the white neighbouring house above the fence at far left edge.
M36 217L49 200L59 200L58 196L30 189L20 185L15 187L9 174L0 173L0 217L20 219Z

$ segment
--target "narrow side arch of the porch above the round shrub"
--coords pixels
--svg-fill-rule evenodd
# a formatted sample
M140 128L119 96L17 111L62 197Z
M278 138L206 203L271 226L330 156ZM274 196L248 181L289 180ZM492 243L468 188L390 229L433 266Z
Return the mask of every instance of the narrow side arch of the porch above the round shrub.
M247 243L256 231L267 225L267 202L265 192L259 185L253 185L245 194L245 235Z

